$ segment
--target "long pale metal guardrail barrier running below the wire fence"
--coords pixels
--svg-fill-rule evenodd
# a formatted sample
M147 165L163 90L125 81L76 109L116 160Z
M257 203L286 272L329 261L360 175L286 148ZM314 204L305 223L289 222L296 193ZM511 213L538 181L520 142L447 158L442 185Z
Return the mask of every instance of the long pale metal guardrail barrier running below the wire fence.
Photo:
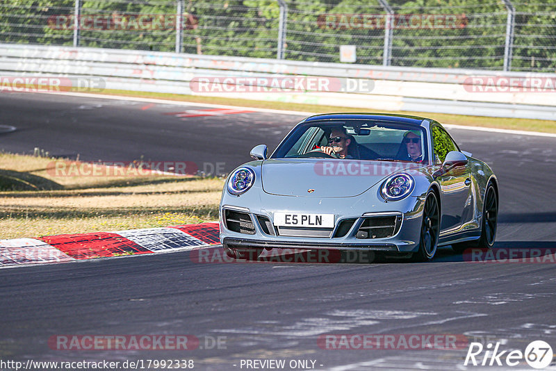
M106 89L212 95L267 101L423 111L491 117L556 119L556 87L543 91L473 92L473 77L540 78L556 74L471 69L417 69L341 63L199 56L184 53L0 44L1 76L97 76ZM370 92L195 92L199 76L325 76L372 80Z

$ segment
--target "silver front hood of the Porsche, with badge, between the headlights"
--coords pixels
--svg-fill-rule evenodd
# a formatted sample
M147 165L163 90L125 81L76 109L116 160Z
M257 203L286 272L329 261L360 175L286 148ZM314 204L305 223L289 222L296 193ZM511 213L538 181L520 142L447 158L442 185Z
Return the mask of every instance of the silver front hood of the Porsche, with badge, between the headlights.
M263 190L271 195L353 197L417 164L389 161L288 158L263 161Z

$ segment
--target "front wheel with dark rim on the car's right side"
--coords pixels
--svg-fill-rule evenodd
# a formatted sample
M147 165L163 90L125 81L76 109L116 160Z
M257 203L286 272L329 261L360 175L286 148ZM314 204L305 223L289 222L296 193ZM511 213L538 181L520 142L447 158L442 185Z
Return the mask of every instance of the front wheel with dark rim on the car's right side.
M436 254L440 233L440 207L434 191L429 191L423 207L423 221L419 249L411 256L413 261L430 261Z

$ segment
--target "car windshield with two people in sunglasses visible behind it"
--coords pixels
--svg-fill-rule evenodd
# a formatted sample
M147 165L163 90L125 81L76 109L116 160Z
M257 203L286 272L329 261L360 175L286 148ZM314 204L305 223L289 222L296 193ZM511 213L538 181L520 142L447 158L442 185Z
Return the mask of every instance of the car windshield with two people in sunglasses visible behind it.
M353 158L427 162L420 126L393 122L307 122L281 142L271 158Z

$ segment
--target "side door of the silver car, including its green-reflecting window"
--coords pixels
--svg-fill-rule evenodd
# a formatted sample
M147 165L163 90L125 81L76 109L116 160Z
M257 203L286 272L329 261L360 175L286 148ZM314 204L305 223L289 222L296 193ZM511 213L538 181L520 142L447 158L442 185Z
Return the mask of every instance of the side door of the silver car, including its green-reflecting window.
M435 165L442 165L448 152L459 151L448 132L439 125L432 126L432 145ZM471 197L471 172L466 164L444 168L436 174L441 186L440 230L459 229L464 222L464 215L468 215L466 208Z

